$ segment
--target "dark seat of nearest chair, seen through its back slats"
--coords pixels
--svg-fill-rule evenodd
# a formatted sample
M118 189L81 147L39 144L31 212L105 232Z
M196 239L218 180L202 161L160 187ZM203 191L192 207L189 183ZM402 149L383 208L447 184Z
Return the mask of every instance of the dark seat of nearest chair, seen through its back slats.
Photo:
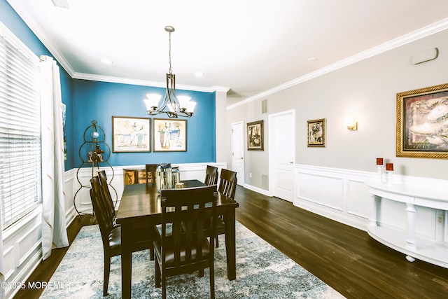
M186 260L186 249L185 249L185 243L186 242L181 242L181 246L183 246L181 248L181 261L180 263L188 263L188 261ZM174 238L172 235L169 235L167 237L165 237L165 263L169 266L169 265L174 265ZM193 242L193 249L191 251L191 258L192 260L195 260L197 258L197 250L195 248L195 242ZM154 252L155 254L160 258L160 260L162 259L162 239L158 238L155 239L154 241ZM207 238L204 238L202 241L202 260L204 258L207 258L207 256L209 256L209 240Z

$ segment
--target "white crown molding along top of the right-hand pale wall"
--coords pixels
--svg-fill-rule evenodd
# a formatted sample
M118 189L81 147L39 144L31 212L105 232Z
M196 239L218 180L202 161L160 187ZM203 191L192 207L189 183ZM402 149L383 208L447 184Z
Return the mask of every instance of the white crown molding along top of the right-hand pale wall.
M367 58L373 57L375 55L379 55L381 53L384 53L388 50L392 50L394 48L398 48L400 46L403 46L407 43L411 43L412 41L416 41L419 39L423 39L423 37L430 36L432 34L435 34L437 32L441 32L445 29L448 29L448 18L445 18L444 20L440 20L439 22L435 22L432 25L428 25L426 27L423 27L421 29L418 29L414 32L410 32L409 34L405 34L403 36L398 37L397 39L393 39L391 41L388 41L386 43L382 43L379 46L375 46L373 48L370 48L369 50L365 50L364 52L358 53L356 55L353 55L351 57L347 57L344 60L340 60L339 62L335 62L334 64L330 64L327 67L323 67L322 69L318 69L316 71L313 71L309 74L306 74L304 76L301 76L299 78L295 78L291 81L288 81L286 83L283 83L281 85L278 85L274 88L271 88L269 90L265 90L264 92L260 92L257 95L254 95L253 97L248 97L247 99L244 99L241 102L237 102L235 104L229 105L227 107L228 110L237 108L238 106L242 106L244 104L247 104L249 102L255 101L255 99L261 99L263 97L267 97L268 95L272 95L275 92L279 92L281 90L284 90L286 88L290 88L294 85L298 85L300 83L304 83L306 81L309 81L313 78L317 78L319 76L323 76L325 74L328 74L332 71L335 71L337 69L342 69L343 67L347 67L350 64L354 64L356 62L360 62L361 60L366 60Z

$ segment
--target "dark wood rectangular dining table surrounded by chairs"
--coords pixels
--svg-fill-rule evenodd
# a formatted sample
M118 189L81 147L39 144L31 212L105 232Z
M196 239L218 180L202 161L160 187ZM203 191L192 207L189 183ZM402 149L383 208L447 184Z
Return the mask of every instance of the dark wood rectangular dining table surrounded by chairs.
M205 186L198 180L182 181L184 188ZM235 253L235 209L238 202L216 192L216 210L225 217L225 251L227 253L228 279L236 274ZM117 211L117 223L121 225L121 288L122 298L131 298L132 250L130 246L132 229L142 224L157 225L162 222L160 193L155 183L126 185Z

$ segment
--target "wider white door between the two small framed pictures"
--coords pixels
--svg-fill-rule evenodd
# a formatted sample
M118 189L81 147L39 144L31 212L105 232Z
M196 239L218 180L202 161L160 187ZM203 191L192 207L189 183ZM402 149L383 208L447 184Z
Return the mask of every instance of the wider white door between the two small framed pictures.
M295 111L269 116L269 193L294 200Z

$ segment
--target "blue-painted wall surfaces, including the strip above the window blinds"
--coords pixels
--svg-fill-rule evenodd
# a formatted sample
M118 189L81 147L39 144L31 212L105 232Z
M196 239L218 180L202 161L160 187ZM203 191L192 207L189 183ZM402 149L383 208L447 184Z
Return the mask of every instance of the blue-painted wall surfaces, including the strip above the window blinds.
M0 0L0 22L37 56L52 56L6 0ZM60 67L60 66L59 66ZM165 94L164 88L72 79L61 67L62 102L66 104L65 169L80 166L78 149L83 144L85 127L97 120L112 148L112 116L149 117L143 99L148 92ZM163 78L164 74L160 74ZM177 90L197 102L195 114L187 119L187 151L173 153L111 153L112 166L146 163L216 162L216 97L214 92ZM161 115L156 118L165 118Z

